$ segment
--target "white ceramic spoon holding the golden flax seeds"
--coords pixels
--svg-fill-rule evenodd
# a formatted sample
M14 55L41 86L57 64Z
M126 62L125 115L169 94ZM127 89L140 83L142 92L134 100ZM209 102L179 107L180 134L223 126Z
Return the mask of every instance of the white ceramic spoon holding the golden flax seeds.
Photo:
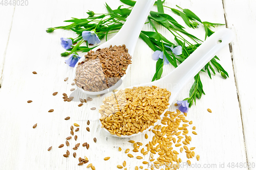
M195 50L185 61L183 61L177 68L170 72L167 76L154 82L139 84L127 88L141 87L141 86L157 86L166 88L172 94L169 97L169 104L172 104L180 90L207 64L224 46L226 46L233 39L233 33L229 29L221 29L212 34L203 42L197 50ZM220 42L221 41L221 42ZM169 105L170 106L170 105ZM168 107L169 107L168 106ZM160 115L162 118L167 109ZM161 121L161 120L158 120ZM101 125L101 123L100 123ZM153 128L153 126L146 130ZM103 128L107 133L108 130ZM145 131L146 131L145 130ZM122 135L121 137L133 137L141 132L133 135ZM112 135L112 134L110 134ZM117 135L112 135L119 137Z

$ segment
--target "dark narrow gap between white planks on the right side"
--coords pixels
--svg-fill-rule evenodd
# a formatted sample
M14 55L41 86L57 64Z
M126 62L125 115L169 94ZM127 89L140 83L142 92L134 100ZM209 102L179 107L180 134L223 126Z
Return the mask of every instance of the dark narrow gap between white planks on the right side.
M222 0L222 6L223 6L223 11L224 11L224 18L225 18L226 28L228 28L228 26L227 26L227 19L226 19L226 12L225 12L225 6L224 6L224 1L225 1L225 0ZM242 130L243 130L243 137L244 137L244 147L245 147L245 156L246 156L247 169L249 170L250 168L249 168L249 166L248 166L247 150L246 150L246 143L245 143L245 136L244 136L243 116L242 116L241 102L240 102L240 100L239 100L238 82L237 82L237 79L236 79L236 72L234 71L233 50L232 50L232 44L231 44L231 42L229 43L229 51L230 51L230 55L231 55L231 61L232 61L232 67L233 67L233 73L234 73L234 84L236 85L236 88L237 88L237 96L238 96L238 103L239 103L239 108L240 108L240 116L241 116L241 121L242 121Z

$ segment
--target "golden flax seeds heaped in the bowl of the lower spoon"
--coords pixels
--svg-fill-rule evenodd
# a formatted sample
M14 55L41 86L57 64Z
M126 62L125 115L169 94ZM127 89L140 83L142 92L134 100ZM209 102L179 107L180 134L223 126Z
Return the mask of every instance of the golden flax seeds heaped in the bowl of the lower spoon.
M101 128L117 136L132 135L153 126L169 103L170 92L156 86L119 90L99 108Z

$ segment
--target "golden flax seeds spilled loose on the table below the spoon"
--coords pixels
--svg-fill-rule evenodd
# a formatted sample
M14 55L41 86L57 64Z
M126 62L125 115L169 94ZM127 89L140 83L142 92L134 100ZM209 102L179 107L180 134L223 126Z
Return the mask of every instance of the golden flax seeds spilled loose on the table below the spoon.
M188 144L190 144L192 138L191 136L187 136L189 125L192 125L192 121L188 121L185 119L187 113L184 115L177 109L177 113L166 111L164 117L162 119L162 125L156 125L152 130L155 135L153 139L145 144L144 147L140 150L142 155L150 154L149 162L143 161L143 164L151 166L153 170L154 167L165 167L165 169L178 169L180 163L182 162L181 158L179 158L179 154L185 150L186 157L187 157L187 164L191 165L189 159L195 157L195 147L188 148ZM188 124L186 124L188 123ZM194 126L193 130L196 129ZM195 131L192 132L194 135L197 133ZM148 135L145 134L145 138L148 138ZM143 145L141 142L135 142L134 140L129 140L130 143L133 143L134 149L133 152L139 152L139 148ZM174 146L173 146L174 144ZM175 149L174 149L175 147ZM125 154L129 153L130 149L125 150ZM134 158L132 154L127 154L128 157ZM157 158L154 158L157 157ZM137 159L143 159L142 156L137 156ZM104 158L104 160L109 160L110 157ZM197 155L196 159L199 161L200 156ZM118 168L122 168L124 166L117 165ZM143 166L139 166L141 169ZM138 170L138 166L135 167ZM145 169L148 170L148 169Z

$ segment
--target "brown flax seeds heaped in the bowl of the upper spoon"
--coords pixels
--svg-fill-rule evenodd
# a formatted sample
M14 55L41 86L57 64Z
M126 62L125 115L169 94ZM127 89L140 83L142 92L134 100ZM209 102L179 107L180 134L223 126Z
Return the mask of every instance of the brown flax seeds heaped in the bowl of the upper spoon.
M125 45L91 50L85 57L85 61L78 63L74 81L86 91L101 91L115 85L132 64Z

